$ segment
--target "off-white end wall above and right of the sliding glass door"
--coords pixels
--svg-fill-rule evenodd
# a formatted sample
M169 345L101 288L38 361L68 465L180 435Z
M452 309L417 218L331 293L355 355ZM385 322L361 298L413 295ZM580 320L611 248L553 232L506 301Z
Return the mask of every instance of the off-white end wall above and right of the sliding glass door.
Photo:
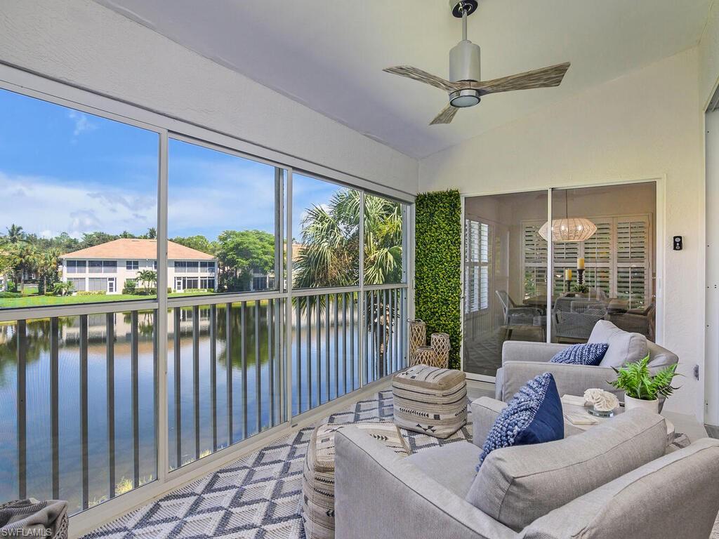
M700 417L703 384L692 377L704 357L698 80L697 49L682 52L431 155L419 183L480 194L666 176L664 345L687 375L667 407ZM684 236L681 252L670 250L674 234Z

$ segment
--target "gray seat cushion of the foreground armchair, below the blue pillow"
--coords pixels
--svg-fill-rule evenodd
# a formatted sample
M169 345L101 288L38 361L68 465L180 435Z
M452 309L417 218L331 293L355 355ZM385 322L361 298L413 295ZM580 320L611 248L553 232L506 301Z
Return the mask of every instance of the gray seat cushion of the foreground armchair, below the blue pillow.
M474 443L458 441L446 446L422 449L409 456L407 461L460 498L464 498L475 480L475 468L481 451ZM448 466L449 463L452 465Z

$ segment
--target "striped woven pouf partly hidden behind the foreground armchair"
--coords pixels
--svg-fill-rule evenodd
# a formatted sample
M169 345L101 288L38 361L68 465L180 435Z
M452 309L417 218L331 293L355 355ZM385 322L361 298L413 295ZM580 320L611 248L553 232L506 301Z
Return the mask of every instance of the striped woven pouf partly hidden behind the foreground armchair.
M348 425L320 425L310 438L302 474L302 520L306 539L334 538L334 433ZM393 423L354 423L352 426L408 456L409 446Z

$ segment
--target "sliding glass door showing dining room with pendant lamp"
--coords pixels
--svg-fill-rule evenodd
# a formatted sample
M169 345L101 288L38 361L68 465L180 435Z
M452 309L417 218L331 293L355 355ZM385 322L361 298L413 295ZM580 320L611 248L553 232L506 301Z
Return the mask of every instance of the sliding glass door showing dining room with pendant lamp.
M587 342L600 320L653 341L655 230L655 182L464 198L464 371L491 380L505 341Z

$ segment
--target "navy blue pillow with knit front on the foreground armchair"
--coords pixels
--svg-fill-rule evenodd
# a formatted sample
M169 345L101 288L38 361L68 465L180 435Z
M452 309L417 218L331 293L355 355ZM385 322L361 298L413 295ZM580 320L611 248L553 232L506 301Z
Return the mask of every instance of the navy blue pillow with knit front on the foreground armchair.
M495 449L564 438L564 415L557 384L549 372L523 385L500 412L480 453L479 471Z

